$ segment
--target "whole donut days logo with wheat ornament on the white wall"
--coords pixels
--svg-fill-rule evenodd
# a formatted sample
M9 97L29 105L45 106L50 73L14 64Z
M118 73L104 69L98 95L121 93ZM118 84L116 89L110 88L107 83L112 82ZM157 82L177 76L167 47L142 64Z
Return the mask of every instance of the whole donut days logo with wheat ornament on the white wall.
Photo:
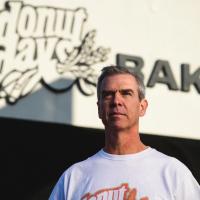
M43 21L41 13L48 13ZM77 85L83 95L93 95L97 76L92 66L106 61L110 50L95 47L95 30L83 32L87 19L82 7L59 9L8 1L0 10L0 98L15 104L38 83L56 93Z

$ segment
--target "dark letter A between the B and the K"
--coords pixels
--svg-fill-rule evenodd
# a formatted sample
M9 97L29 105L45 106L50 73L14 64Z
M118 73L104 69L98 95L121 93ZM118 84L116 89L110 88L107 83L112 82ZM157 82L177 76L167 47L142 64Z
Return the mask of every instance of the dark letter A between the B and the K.
M159 76L160 72L162 72L163 74L162 77ZM170 90L178 90L175 78L173 76L173 73L171 71L168 61L164 61L164 60L156 61L154 69L147 83L147 86L153 87L156 82L167 84Z

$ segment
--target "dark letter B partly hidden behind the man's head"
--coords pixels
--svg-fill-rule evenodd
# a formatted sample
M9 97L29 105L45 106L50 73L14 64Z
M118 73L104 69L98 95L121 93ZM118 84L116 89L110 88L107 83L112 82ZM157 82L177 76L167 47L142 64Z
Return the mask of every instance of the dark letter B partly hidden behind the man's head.
M129 63L131 63L131 65ZM117 65L122 67L133 67L134 71L144 79L144 74L141 72L144 61L141 57L117 54Z

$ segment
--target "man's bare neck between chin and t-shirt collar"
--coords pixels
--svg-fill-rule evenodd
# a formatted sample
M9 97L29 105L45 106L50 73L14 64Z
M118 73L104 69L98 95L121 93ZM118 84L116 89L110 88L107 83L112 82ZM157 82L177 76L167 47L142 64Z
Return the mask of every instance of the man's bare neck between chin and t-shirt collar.
M115 131L105 132L105 147L104 150L111 154L133 154L138 153L146 149L142 141L140 140L139 133L136 131L125 132Z

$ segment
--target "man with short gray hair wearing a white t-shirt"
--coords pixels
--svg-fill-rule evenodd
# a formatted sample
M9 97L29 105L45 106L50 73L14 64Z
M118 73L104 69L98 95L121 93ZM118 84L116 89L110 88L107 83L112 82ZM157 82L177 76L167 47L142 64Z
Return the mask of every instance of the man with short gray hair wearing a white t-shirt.
M97 84L105 146L67 169L50 200L199 200L200 186L180 161L140 140L139 118L148 102L140 77L105 67Z

